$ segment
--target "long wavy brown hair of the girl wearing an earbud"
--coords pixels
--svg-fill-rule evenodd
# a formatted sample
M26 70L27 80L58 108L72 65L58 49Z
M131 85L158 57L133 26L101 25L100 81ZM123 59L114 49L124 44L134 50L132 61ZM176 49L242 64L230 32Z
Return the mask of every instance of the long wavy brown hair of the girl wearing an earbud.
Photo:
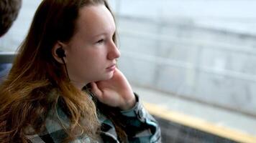
M109 9L105 0L42 1L12 69L0 86L0 142L28 142L28 127L35 130L32 134L42 132L47 112L59 99L70 119L70 127L65 131L67 140L75 139L81 132L96 137L99 121L95 104L85 92L70 84L63 64L52 56L54 44L69 41L76 32L79 9L96 4ZM49 97L52 89L60 94Z

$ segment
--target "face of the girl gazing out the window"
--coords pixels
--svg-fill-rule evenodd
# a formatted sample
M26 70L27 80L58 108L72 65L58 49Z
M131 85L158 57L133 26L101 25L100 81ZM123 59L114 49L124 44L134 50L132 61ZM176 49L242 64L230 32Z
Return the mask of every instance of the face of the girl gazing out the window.
M115 30L114 18L106 6L80 9L76 32L63 46L69 78L76 87L111 79L120 56L112 40Z

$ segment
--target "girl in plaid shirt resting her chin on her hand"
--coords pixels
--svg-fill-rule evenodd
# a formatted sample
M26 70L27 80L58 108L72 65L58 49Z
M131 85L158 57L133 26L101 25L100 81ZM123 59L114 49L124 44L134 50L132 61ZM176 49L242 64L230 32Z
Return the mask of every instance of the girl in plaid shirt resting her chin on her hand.
M0 142L160 142L105 0L43 0L0 88Z

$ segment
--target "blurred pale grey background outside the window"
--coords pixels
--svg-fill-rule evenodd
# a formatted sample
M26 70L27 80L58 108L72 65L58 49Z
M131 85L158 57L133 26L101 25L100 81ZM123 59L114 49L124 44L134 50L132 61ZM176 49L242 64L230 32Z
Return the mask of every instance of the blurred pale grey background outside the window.
M119 68L144 102L256 142L256 1L109 2L122 53ZM38 4L23 0L0 51L17 49Z

